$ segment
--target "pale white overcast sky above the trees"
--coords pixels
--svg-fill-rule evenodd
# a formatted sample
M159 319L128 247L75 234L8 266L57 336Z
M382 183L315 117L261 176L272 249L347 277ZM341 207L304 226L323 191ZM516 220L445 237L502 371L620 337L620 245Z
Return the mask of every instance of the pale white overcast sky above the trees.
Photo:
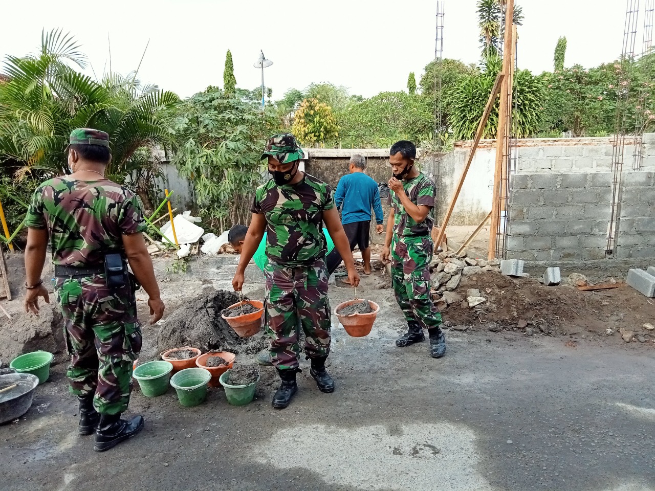
M0 54L34 52L41 29L75 35L98 77L139 64L140 79L187 97L223 86L225 52L234 57L237 85L255 88L253 63L263 49L273 98L310 82L345 85L365 97L405 90L434 58L436 2L426 0L22 0L3 2ZM566 65L586 67L622 51L626 0L522 0L519 68L552 69L559 36L569 42ZM475 0L445 0L443 56L477 63L480 48ZM637 52L641 51L641 26ZM88 70L90 74L90 70Z

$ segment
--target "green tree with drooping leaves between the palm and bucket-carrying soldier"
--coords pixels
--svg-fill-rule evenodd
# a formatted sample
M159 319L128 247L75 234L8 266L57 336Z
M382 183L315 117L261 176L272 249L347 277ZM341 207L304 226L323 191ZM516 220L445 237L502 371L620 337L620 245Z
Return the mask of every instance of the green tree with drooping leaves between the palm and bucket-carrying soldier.
M178 151L172 158L180 175L193 182L201 217L225 230L247 223L248 203L261 176L259 157L274 128L261 106L227 96L216 87L179 105L172 131Z

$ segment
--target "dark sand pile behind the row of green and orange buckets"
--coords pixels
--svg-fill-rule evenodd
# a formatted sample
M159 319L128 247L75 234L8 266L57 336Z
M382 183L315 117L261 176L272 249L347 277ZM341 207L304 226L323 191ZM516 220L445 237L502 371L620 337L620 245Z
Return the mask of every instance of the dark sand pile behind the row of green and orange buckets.
M203 353L227 351L234 354L255 354L268 346L268 338L257 333L250 338L240 338L221 318L225 308L239 301L233 291L216 290L200 295L173 312L159 331L159 352L194 346Z

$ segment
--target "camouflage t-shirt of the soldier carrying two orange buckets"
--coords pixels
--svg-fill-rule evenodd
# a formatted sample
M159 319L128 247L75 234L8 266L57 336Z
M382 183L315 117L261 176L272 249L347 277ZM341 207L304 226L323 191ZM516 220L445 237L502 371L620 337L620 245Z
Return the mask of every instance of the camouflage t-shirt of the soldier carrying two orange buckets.
M266 255L282 266L306 266L326 254L323 212L334 208L329 185L305 173L294 185L271 179L255 191L251 211L267 223Z

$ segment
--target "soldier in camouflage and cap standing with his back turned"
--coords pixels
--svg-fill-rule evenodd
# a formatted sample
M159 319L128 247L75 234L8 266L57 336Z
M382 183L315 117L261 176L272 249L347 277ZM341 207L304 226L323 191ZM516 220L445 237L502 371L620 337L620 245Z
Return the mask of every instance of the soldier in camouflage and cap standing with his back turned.
M104 177L111 160L109 136L79 128L69 141L71 175L41 184L28 209L25 307L37 313L39 297L50 302L41 280L49 244L71 355L67 376L71 393L79 399L78 431L95 431L94 450L102 452L132 437L144 424L141 416L121 419L130 401L132 363L141 350L136 282L127 275L126 260L150 297L153 322L162 317L164 304L143 242L145 222L136 196ZM107 285L104 261L111 253L122 256L122 286Z

